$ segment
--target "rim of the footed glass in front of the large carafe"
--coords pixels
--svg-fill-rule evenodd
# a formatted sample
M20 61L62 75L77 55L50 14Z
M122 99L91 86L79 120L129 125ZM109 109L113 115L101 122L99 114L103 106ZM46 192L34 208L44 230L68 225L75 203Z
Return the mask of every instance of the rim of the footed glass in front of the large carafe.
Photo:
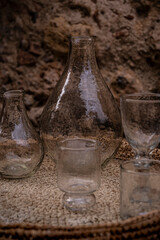
M91 145L87 146L87 147L66 147L63 146L63 143L65 142L71 142L71 141L84 141L84 142L88 142L91 143ZM97 150L98 149L98 141L94 140L94 139L90 139L90 138L69 138L69 139L64 139L61 140L57 143L57 146L59 149L61 150L69 150L69 151L88 151L88 150Z

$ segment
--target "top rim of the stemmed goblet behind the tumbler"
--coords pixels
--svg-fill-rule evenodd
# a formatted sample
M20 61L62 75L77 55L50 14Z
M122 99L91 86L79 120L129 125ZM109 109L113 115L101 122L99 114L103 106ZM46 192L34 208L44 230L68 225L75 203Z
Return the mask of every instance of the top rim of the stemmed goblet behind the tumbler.
M144 97L144 99L138 99L138 97ZM155 99L147 99L147 97L155 97ZM149 102L160 102L160 93L150 93L150 92L139 92L124 94L120 97L121 101L127 102L140 102L140 103L149 103Z

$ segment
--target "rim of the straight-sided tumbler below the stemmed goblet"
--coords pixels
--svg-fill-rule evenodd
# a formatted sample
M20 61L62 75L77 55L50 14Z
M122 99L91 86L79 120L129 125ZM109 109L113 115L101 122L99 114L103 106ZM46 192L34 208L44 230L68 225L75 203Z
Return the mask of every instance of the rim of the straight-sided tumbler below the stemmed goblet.
M137 166L140 167L140 164L141 163L144 163L144 167L143 168L138 168L137 167L137 170L149 170L148 172L140 172L140 171L136 171L136 164L137 163ZM160 166L160 161L159 160L155 160L155 159L141 159L141 160L137 160L137 159L131 159L131 160L127 160L123 163L120 164L120 169L121 171L125 172L125 173L131 173L131 174L134 174L134 175L160 175L160 171L158 172L152 172L150 171L150 165L151 163L155 163L155 164L158 164ZM130 167L127 168L127 166ZM134 169L132 170L131 167Z

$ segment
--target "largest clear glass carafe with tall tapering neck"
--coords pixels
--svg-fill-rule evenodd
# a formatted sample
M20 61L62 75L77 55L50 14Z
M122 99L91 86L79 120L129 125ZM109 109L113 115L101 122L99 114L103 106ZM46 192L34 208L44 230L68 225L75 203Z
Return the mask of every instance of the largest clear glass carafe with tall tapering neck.
M120 112L98 69L94 38L71 38L66 68L42 113L41 135L55 161L56 143L65 138L98 140L102 164L116 152L122 136Z

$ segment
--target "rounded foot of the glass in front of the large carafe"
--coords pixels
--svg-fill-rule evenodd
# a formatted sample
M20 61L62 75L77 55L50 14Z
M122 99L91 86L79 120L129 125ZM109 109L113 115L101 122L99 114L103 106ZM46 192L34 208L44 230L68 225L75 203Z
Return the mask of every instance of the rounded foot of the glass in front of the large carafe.
M95 195L92 194L68 194L63 196L63 204L72 211L85 211L96 203Z

